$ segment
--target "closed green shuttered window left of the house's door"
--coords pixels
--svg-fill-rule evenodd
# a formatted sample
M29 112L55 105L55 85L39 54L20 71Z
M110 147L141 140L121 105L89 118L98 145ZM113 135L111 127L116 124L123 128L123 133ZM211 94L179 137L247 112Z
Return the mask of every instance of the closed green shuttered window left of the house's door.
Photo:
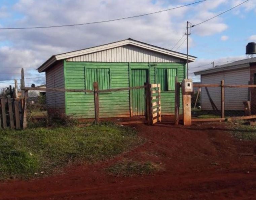
M98 82L99 90L110 89L110 69L85 68L85 89L93 90L94 82Z

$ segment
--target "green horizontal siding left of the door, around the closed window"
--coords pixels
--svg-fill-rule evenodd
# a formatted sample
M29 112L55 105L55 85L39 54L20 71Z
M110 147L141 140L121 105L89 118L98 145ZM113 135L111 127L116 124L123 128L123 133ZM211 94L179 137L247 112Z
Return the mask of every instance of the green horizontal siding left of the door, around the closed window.
M128 63L66 62L66 88L85 88L85 68L110 68L111 88L129 87ZM67 92L66 114L75 118L94 118L93 93ZM129 91L99 94L100 117L129 117Z

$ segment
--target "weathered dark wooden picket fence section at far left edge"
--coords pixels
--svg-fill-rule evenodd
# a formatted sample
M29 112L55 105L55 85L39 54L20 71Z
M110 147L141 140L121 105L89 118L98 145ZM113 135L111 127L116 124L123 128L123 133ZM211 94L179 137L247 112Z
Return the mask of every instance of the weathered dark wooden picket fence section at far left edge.
M20 129L23 127L25 98L0 99L0 129Z

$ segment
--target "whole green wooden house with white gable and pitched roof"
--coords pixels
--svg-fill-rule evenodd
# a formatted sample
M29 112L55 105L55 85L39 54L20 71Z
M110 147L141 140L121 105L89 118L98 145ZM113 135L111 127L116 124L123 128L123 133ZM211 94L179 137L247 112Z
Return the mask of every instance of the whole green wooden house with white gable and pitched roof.
M162 115L174 114L175 76L186 78L186 55L133 39L51 56L39 68L47 88L99 89L161 84ZM196 57L189 56L189 62ZM94 118L94 95L84 92L46 93L47 107L75 118ZM99 94L100 117L145 115L143 89Z

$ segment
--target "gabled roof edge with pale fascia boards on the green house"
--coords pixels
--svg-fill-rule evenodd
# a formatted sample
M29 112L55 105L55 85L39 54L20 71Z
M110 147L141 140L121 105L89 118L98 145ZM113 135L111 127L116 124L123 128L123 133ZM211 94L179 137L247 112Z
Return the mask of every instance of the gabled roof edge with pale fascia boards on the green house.
M100 46L96 46L96 47L90 47L90 48L86 48L86 49L82 49L82 50L71 51L71 52L67 52L67 53L63 53L63 54L53 55L47 61L45 61L37 70L39 72L43 72L49 66L51 66L53 63L55 63L58 60L73 58L73 57L86 55L86 54L92 54L92 53L95 53L95 52L104 51L104 50L107 50L107 49L112 49L112 48L116 48L116 47L120 47L120 46L124 46L124 45L133 45L133 46L140 47L140 48L143 48L143 49L147 49L147 50L150 50L150 51L165 54L167 56L177 57L177 58L180 58L180 59L183 59L183 60L187 59L186 54L179 53L179 52L176 52L176 51L172 51L172 50L169 50L169 49L164 49L164 48L161 48L161 47L157 47L157 46L154 46L154 45L150 45L150 44L147 44L147 43L144 43L144 42L140 42L140 41L128 38L126 40L121 40L121 41L117 41L117 42L113 42L113 43L109 43L109 44L104 44L104 45L100 45ZM189 57L188 57L189 62L193 62L195 60L195 58L196 58L195 56L189 55Z

